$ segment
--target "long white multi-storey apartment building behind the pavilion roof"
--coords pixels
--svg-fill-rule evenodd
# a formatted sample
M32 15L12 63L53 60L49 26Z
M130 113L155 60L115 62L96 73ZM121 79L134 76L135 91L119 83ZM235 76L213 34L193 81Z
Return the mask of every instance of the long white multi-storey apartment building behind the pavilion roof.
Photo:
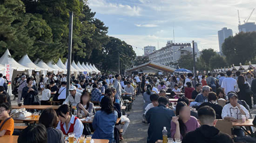
M197 49L197 43L194 43L194 45L196 57L199 57L200 52ZM152 62L171 66L171 63L178 62L180 56L186 55L189 52L193 53L190 43L172 43L172 41L168 41L165 47L149 54L148 58Z

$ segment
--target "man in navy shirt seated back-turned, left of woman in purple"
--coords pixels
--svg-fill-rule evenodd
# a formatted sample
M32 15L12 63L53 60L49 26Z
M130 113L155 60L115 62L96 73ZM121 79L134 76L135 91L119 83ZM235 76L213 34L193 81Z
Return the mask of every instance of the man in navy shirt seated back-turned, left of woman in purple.
M168 137L171 137L171 120L175 116L173 110L167 108L169 103L168 98L159 97L158 106L148 110L145 115L149 123L147 143L155 143L157 140L162 139L163 127L168 131Z

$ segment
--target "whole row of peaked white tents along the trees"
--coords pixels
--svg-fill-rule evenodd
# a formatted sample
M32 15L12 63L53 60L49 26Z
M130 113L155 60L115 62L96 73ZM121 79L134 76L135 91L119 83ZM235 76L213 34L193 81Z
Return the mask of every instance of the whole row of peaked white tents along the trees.
M43 62L40 59L37 59L36 61L32 62L27 55L23 56L19 62L16 62L12 57L7 49L3 56L0 57L0 73L5 75L5 65L9 64L11 66L11 77L15 72L19 71L26 71L29 75L32 75L32 71L40 72L40 74L46 75L47 72L52 72L54 74L66 74L67 73L67 61L65 64L61 62L61 59L55 64L53 61L50 62ZM91 63L84 63L82 64L80 62L77 62L77 64L73 61L71 63L70 68L71 74L78 75L80 73L82 74L98 74L101 73L94 64Z

